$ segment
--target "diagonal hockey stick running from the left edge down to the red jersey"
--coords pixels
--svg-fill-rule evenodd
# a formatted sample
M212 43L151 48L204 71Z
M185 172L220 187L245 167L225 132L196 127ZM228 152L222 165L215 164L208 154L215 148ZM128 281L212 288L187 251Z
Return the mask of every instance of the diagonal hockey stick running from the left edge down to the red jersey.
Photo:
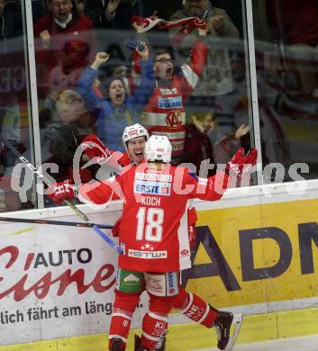
M31 169L32 173L37 175L41 181L50 186L50 181L41 174L39 169L35 168L35 166L32 165L25 157L23 157L19 151L17 151L9 142L6 140L4 137L0 137L0 140L2 140L7 148L9 148L10 151L14 153L16 157L20 159L21 162L23 162L24 165L26 165L29 169ZM72 209L78 217L80 217L82 220L84 220L87 224L87 227L92 228L95 230L95 232L104 239L104 241L110 246L113 247L114 250L117 251L119 255L123 254L123 249L121 247L118 247L118 245L115 244L115 242L112 240L112 238L109 238L104 232L93 222L91 222L86 214L84 214L82 211L77 209L77 206L70 202L69 200L63 200L64 203L68 205L70 209Z

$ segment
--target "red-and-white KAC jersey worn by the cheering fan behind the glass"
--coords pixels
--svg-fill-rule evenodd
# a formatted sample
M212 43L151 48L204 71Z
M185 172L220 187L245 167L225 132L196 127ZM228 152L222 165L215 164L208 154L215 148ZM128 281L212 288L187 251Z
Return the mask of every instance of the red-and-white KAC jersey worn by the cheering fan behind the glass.
M190 61L181 67L182 74L174 75L168 86L156 86L141 115L141 124L150 135L168 137L173 158L183 154L186 139L185 104L202 74L207 52L208 47L198 40L192 49ZM158 81L156 83L158 85Z

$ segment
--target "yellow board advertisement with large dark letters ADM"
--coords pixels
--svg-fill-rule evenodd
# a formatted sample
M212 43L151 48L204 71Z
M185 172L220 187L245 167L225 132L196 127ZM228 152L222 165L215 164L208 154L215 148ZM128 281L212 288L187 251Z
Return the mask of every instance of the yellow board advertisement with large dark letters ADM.
M200 211L202 241L192 272L186 274L186 288L219 307L317 297L317 204L310 200Z

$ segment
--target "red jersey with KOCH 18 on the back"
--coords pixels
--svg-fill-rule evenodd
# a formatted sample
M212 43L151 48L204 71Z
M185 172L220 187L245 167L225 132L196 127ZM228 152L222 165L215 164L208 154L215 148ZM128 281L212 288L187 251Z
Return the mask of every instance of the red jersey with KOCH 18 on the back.
M112 180L79 187L83 202L104 204L123 199L118 266L138 272L173 272L191 266L187 238L188 201L215 201L223 196L228 175L208 179L186 168L154 169L147 163L132 166Z

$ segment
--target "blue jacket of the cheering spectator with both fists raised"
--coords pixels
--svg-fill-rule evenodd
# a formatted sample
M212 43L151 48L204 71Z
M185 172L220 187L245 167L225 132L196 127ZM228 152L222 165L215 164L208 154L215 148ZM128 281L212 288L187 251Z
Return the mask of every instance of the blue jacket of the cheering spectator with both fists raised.
M80 77L77 91L86 102L88 109L98 111L96 116L96 132L104 144L113 150L124 151L123 130L127 125L141 121L140 112L148 103L154 86L153 63L149 58L141 62L141 85L133 95L126 95L122 106L115 107L105 98L98 97L92 87L97 70L87 67Z

